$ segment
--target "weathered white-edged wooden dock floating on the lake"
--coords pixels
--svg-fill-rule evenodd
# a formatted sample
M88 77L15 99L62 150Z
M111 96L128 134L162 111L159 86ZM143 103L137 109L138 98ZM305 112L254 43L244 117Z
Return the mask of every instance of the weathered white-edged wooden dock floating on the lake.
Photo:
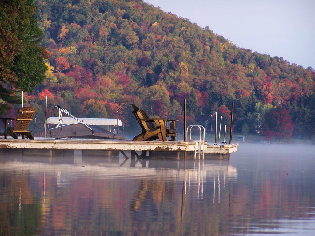
M207 155L225 155L237 151L238 143L234 144L208 144L199 141L131 141L131 140L108 140L108 139L71 139L71 138L36 138L30 139L0 139L0 149L22 149L22 150L75 150L77 153L83 150L103 150L103 151L118 151L126 158L126 151L130 151L131 158L150 156L157 152L165 152L170 156L179 157L185 152L190 155L199 153L199 147L204 149L205 156ZM142 152L138 155L137 152ZM147 152L149 155L147 155ZM197 154L198 158L198 154Z

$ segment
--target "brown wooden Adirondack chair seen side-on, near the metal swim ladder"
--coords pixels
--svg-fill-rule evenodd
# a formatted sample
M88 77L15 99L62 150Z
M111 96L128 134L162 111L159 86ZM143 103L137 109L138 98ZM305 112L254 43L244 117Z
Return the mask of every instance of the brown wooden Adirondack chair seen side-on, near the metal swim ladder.
M159 139L159 141L167 141L167 137L171 137L170 141L175 141L177 130L175 128L175 121L167 120L165 118L150 118L146 111L140 110L137 106L132 104L136 120L138 121L142 132L133 138L133 141L152 141ZM166 123L170 122L170 128Z

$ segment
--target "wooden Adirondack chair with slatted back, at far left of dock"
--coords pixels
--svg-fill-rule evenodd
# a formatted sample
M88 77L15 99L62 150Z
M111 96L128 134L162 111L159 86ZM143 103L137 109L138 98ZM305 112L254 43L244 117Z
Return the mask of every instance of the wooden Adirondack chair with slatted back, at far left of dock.
M22 107L18 110L15 119L14 127L8 127L8 120L6 120L5 128L7 130L4 131L5 136L9 134L14 139L18 139L17 134L22 135L22 139L25 139L25 136L29 139L34 139L31 131L28 130L28 126L30 125L31 121L33 120L33 115L35 114L35 109L32 107ZM3 119L4 122L4 119ZM5 137L6 138L6 137Z

